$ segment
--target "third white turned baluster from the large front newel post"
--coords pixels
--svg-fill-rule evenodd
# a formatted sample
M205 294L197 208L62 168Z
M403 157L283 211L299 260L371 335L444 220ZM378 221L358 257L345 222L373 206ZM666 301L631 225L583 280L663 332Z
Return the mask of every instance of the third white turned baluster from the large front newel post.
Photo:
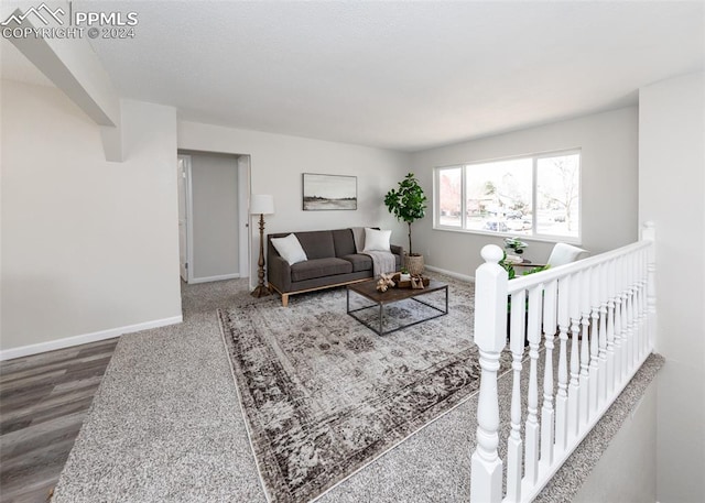
M556 331L556 280L543 289L543 336L546 359L543 372L543 405L541 406L541 463L550 467L553 462L553 339Z

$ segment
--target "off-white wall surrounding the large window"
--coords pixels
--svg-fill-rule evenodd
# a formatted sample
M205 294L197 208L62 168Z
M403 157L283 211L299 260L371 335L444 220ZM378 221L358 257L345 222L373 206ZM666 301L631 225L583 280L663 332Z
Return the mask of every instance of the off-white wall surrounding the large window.
M638 238L637 127L637 108L629 107L417 152L412 166L431 195L436 166L582 147L583 248L599 253ZM491 236L433 230L431 212L415 232L427 264L470 276L481 262L480 249L502 244ZM527 241L527 258L547 259L553 243Z

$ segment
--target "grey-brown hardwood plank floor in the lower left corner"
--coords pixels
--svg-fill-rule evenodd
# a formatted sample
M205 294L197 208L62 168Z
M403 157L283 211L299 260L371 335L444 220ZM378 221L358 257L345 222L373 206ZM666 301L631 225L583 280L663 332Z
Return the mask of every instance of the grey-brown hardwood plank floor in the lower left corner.
M117 343L0 363L0 502L47 501Z

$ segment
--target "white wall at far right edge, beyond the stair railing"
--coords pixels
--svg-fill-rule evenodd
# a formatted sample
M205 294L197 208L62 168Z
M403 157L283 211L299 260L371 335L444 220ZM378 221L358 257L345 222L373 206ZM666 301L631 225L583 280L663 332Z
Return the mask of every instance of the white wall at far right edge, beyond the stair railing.
M705 74L639 92L639 219L657 225L658 496L705 494Z

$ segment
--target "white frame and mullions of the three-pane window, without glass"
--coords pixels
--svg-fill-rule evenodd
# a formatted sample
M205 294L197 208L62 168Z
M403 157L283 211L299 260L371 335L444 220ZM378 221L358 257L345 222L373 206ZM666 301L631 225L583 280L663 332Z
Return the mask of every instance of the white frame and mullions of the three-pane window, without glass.
M536 184L536 175L539 171L539 161L542 158L551 158L551 157L560 157L562 155L573 155L577 154L578 156L578 201L577 201L577 236L560 236L560 234L550 234L550 233L539 233L538 232L538 216L535 209L535 201L538 200L538 184ZM500 163L505 161L516 161L516 160L531 160L531 210L532 210L532 219L531 219L531 233L522 234L512 231L499 232L499 231L490 231L482 229L467 229L467 167L476 164L489 164L489 163ZM453 170L460 168L460 226L444 226L441 223L441 173L444 170ZM467 163L458 163L458 164L449 164L445 166L435 166L433 168L433 230L441 231L449 231L449 232L463 232L469 234L479 234L479 236L495 236L499 238L507 237L520 237L521 239L531 240L531 241L542 241L542 242L565 242L571 244L582 244L583 242L583 151L581 147L550 151L550 152L541 152L534 154L522 154L522 155L513 155L509 157L495 157L488 160L473 161Z

